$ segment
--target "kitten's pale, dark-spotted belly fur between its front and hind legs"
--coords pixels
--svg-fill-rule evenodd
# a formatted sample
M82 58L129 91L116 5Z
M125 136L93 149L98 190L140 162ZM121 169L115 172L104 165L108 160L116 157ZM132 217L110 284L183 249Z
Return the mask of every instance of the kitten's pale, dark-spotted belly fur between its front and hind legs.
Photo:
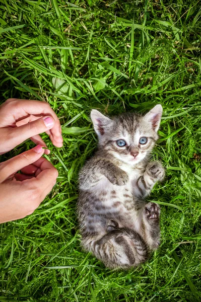
M100 212L105 215L105 220L114 219L119 228L130 228L141 233L142 211L135 208L135 198L132 195L135 178L123 186L113 185L106 177L93 188L93 193L100 200Z

